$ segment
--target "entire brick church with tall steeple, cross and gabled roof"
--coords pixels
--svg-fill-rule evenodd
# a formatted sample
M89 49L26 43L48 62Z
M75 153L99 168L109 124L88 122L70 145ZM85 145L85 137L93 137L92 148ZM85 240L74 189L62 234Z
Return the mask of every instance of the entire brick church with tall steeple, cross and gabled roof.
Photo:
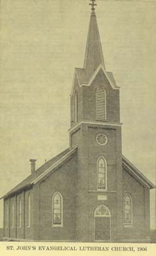
M150 242L155 186L121 152L120 88L105 70L91 1L84 67L70 95L69 148L3 196L4 240Z

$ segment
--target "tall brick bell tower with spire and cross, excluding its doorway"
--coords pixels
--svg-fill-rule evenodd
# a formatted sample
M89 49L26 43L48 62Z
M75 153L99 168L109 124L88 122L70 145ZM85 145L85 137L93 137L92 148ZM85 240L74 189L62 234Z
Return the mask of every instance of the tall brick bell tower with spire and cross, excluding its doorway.
M90 5L84 67L75 68L70 95L70 147L77 145L78 163L76 230L79 241L97 240L95 210L103 205L111 216L105 239L115 240L123 227L120 88L105 70L95 0Z

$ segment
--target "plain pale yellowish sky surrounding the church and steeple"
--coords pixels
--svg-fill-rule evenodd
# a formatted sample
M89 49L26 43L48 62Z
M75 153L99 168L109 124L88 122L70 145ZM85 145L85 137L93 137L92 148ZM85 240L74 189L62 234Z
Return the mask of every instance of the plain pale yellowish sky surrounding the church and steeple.
M70 92L74 68L83 67L89 2L1 0L1 196L30 174L29 159L38 168L69 146ZM96 13L106 70L121 87L123 155L155 183L156 2L98 0Z

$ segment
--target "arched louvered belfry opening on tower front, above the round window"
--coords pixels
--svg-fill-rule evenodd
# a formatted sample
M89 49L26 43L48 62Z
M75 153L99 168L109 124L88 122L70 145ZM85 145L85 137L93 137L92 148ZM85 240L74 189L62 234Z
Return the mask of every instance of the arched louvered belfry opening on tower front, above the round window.
M106 93L102 86L97 88L97 119L106 120Z

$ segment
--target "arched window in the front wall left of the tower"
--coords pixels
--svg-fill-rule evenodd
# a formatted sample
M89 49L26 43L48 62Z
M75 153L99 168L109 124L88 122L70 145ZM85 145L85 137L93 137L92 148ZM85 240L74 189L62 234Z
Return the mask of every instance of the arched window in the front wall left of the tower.
M63 200L60 193L52 196L52 226L63 225Z

